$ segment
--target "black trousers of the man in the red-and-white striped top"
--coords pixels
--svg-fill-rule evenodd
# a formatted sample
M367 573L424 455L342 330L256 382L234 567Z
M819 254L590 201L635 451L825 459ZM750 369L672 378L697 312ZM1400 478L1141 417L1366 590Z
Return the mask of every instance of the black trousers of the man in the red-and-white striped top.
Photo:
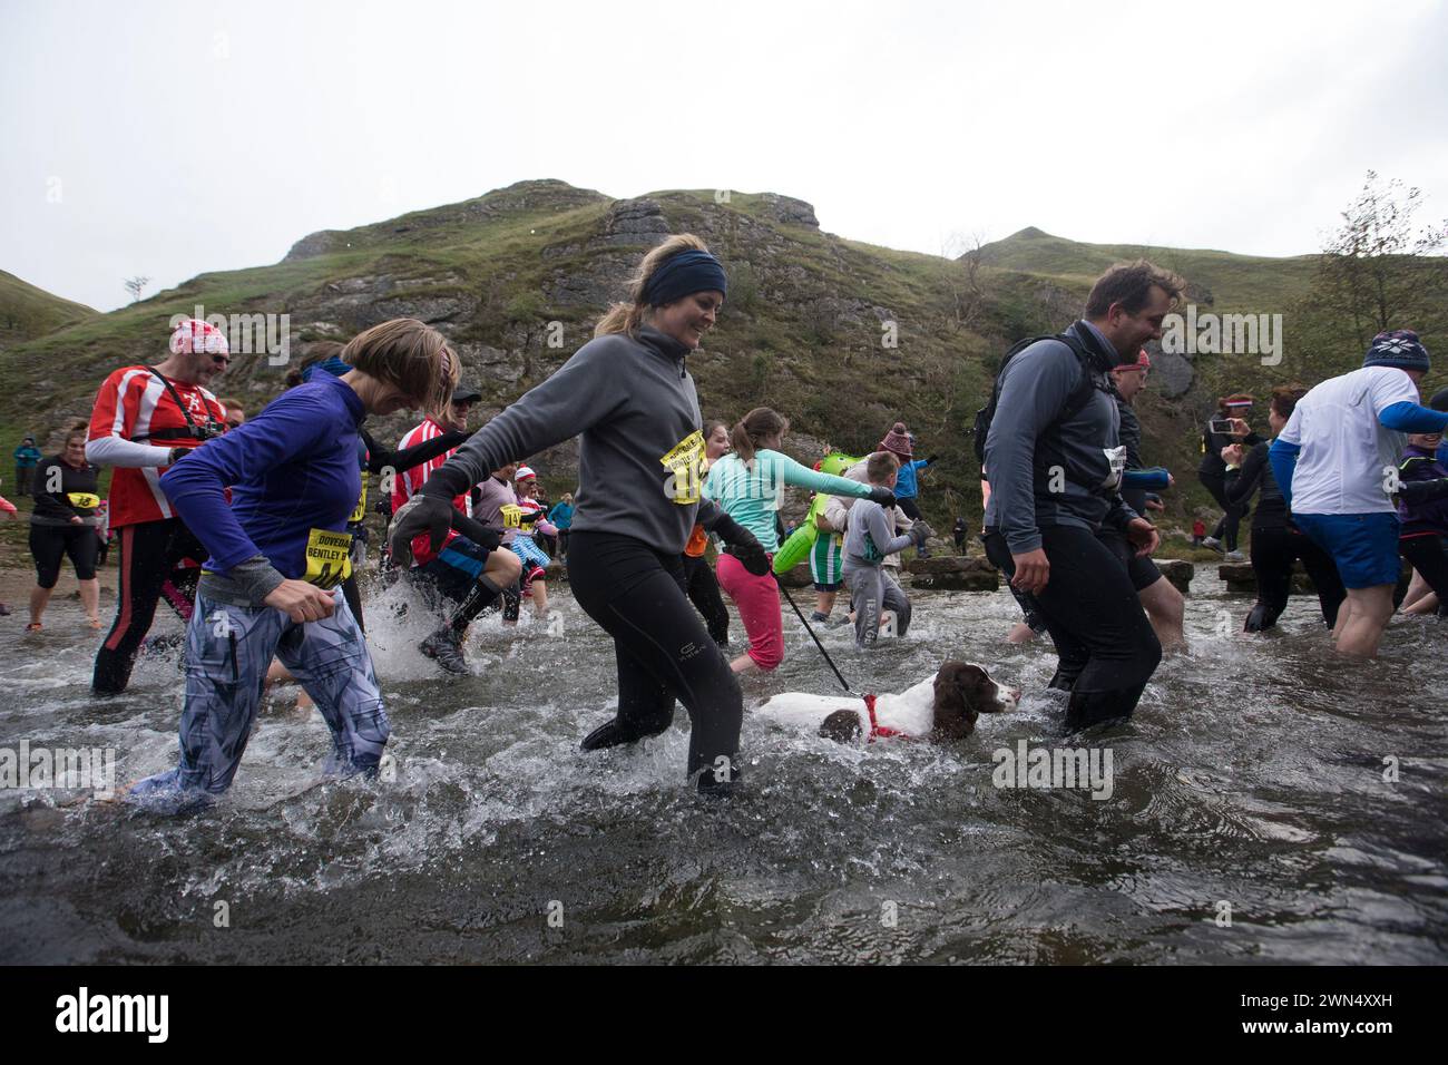
M116 620L96 652L96 672L91 678L91 688L98 696L116 696L126 690L140 640L151 632L151 622L156 616L161 585L172 577L182 559L206 562L207 554L180 517L127 525L119 530L119 536L120 594L116 596ZM194 588L195 578L190 574L177 584Z

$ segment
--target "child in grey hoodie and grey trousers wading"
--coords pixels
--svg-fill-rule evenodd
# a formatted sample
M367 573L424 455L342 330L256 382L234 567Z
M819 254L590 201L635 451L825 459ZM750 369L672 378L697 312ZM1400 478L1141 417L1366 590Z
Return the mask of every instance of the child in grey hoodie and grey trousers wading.
M866 477L872 485L895 487L895 459L885 454L870 455ZM911 606L901 585L885 572L886 555L904 551L911 543L919 546L930 539L930 526L917 522L908 533L895 535L885 507L870 500L856 500L850 509L850 523L844 533L844 582L850 588L850 609L854 611L854 645L875 643L880 632L880 611L895 614L895 635L909 629Z

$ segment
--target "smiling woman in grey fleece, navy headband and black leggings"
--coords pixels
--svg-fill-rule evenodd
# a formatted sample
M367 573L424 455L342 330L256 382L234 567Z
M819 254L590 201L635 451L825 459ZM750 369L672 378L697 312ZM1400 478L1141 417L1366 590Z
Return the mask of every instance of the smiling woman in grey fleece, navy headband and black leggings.
M413 536L442 542L455 496L520 456L579 436L569 584L614 638L618 664L618 713L582 746L656 736L679 700L692 724L688 774L705 793L727 793L737 781L744 697L685 594L683 545L698 522L746 569L769 571L759 540L701 498L708 467L685 358L712 327L724 293L724 268L696 236L654 248L630 284L630 301L614 304L592 341L436 469L397 511L391 532L392 556L405 562Z

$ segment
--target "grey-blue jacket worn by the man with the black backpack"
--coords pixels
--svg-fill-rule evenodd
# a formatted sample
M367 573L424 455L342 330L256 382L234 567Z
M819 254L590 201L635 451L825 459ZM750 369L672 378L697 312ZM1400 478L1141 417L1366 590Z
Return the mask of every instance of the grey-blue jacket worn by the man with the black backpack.
M1096 391L1067 422L1047 432L1080 381L1082 364L1066 343L1038 341L1001 375L1001 400L986 438L986 529L1003 533L1015 555L1040 548L1044 526L1095 532L1103 523L1121 529L1138 517L1118 493L1125 449L1108 374L1121 356L1085 322L1069 332L1099 365L1092 369Z

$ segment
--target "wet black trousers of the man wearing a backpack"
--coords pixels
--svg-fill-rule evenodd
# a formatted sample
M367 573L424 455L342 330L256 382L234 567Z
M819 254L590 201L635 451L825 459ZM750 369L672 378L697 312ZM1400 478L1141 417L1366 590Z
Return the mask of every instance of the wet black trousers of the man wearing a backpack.
M1161 661L1161 643L1127 568L1089 529L1045 526L1041 546L1051 572L1032 598L1060 658L1051 687L1072 693L1066 729L1131 717ZM1006 578L1015 575L1001 533L986 533L986 556Z

